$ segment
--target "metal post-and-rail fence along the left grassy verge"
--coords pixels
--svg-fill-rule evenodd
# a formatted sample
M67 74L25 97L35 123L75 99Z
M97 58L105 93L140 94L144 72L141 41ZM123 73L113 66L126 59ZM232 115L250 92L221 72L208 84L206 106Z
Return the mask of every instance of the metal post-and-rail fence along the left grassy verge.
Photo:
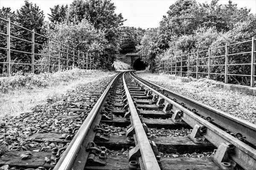
M10 21L0 18L0 68L1 72L11 75L13 65L23 66L32 73L41 71L54 72L68 69L72 66L81 69L94 69L99 58L67 45L50 37L38 34ZM2 31L2 32L1 32ZM17 31L22 31L29 37L27 40L18 36ZM2 46L3 45L3 46ZM31 51L17 50L31 49Z

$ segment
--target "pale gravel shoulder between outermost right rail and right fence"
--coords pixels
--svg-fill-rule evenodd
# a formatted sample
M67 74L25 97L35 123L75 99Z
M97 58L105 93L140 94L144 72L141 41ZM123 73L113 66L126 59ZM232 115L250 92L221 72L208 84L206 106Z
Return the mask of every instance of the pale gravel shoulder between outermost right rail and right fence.
M182 82L146 71L137 71L136 74L171 91L256 124L256 96L217 88L211 84L213 80L210 79Z

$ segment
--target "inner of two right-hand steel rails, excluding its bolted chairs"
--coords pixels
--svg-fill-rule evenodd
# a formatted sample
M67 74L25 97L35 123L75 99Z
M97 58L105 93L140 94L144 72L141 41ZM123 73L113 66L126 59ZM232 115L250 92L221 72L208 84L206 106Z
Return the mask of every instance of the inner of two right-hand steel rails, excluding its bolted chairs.
M131 72L130 72L131 74ZM224 144L233 144L234 147L234 154L230 155L230 158L243 167L245 170L255 170L256 169L256 150L252 147L248 146L247 144L241 142L239 139L231 136L230 134L226 133L224 130L212 125L207 120L197 116L195 113L192 113L188 109L182 107L181 105L174 102L172 99L164 96L163 94L159 93L158 91L154 90L153 88L149 87L132 74L131 76L140 83L140 85L144 86L144 89L149 89L152 91L152 95L156 94L160 98L164 99L164 104L170 103L172 105L171 111L173 113L177 111L181 111L183 114L180 116L184 122L186 122L191 127L195 125L205 126L207 127L206 133L203 135L209 142L214 144L216 147L219 147L222 143ZM247 122L248 123L248 122Z

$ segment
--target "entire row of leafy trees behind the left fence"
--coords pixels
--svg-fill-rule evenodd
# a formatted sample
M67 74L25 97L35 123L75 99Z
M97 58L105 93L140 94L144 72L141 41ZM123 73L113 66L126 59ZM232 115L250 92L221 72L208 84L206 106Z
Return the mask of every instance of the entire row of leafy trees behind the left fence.
M17 11L11 8L1 8L0 17L10 18L11 22L99 58L97 68L111 68L119 52L134 52L136 45L140 45L144 31L141 28L123 27L125 21L122 14L115 14L115 6L111 0L74 0L68 5L57 5L50 8L49 22L44 21L45 15L41 9L29 0ZM0 31L6 33L6 23L0 21ZM12 26L11 34L15 37L31 41L31 33ZM47 45L47 39L35 36L35 42ZM6 37L0 35L0 47L6 48ZM31 51L29 42L11 39L11 48L18 51ZM58 47L53 47L58 48ZM45 54L46 48L37 46L36 54ZM12 52L12 61L31 63L31 56ZM6 62L6 51L0 50L0 61ZM45 59L35 56L35 61L43 62ZM4 72L1 67L0 73ZM26 66L19 69L28 70Z

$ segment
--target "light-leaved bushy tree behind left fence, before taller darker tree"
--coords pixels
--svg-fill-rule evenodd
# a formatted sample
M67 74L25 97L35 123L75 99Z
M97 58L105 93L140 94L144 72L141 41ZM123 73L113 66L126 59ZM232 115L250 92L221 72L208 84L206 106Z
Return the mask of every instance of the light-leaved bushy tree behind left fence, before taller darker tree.
M94 28L86 19L81 20L78 24L57 23L55 29L49 29L48 34L61 44L88 53L94 59L103 55L105 48L108 46L105 32ZM95 66L104 64L104 62L98 62Z

